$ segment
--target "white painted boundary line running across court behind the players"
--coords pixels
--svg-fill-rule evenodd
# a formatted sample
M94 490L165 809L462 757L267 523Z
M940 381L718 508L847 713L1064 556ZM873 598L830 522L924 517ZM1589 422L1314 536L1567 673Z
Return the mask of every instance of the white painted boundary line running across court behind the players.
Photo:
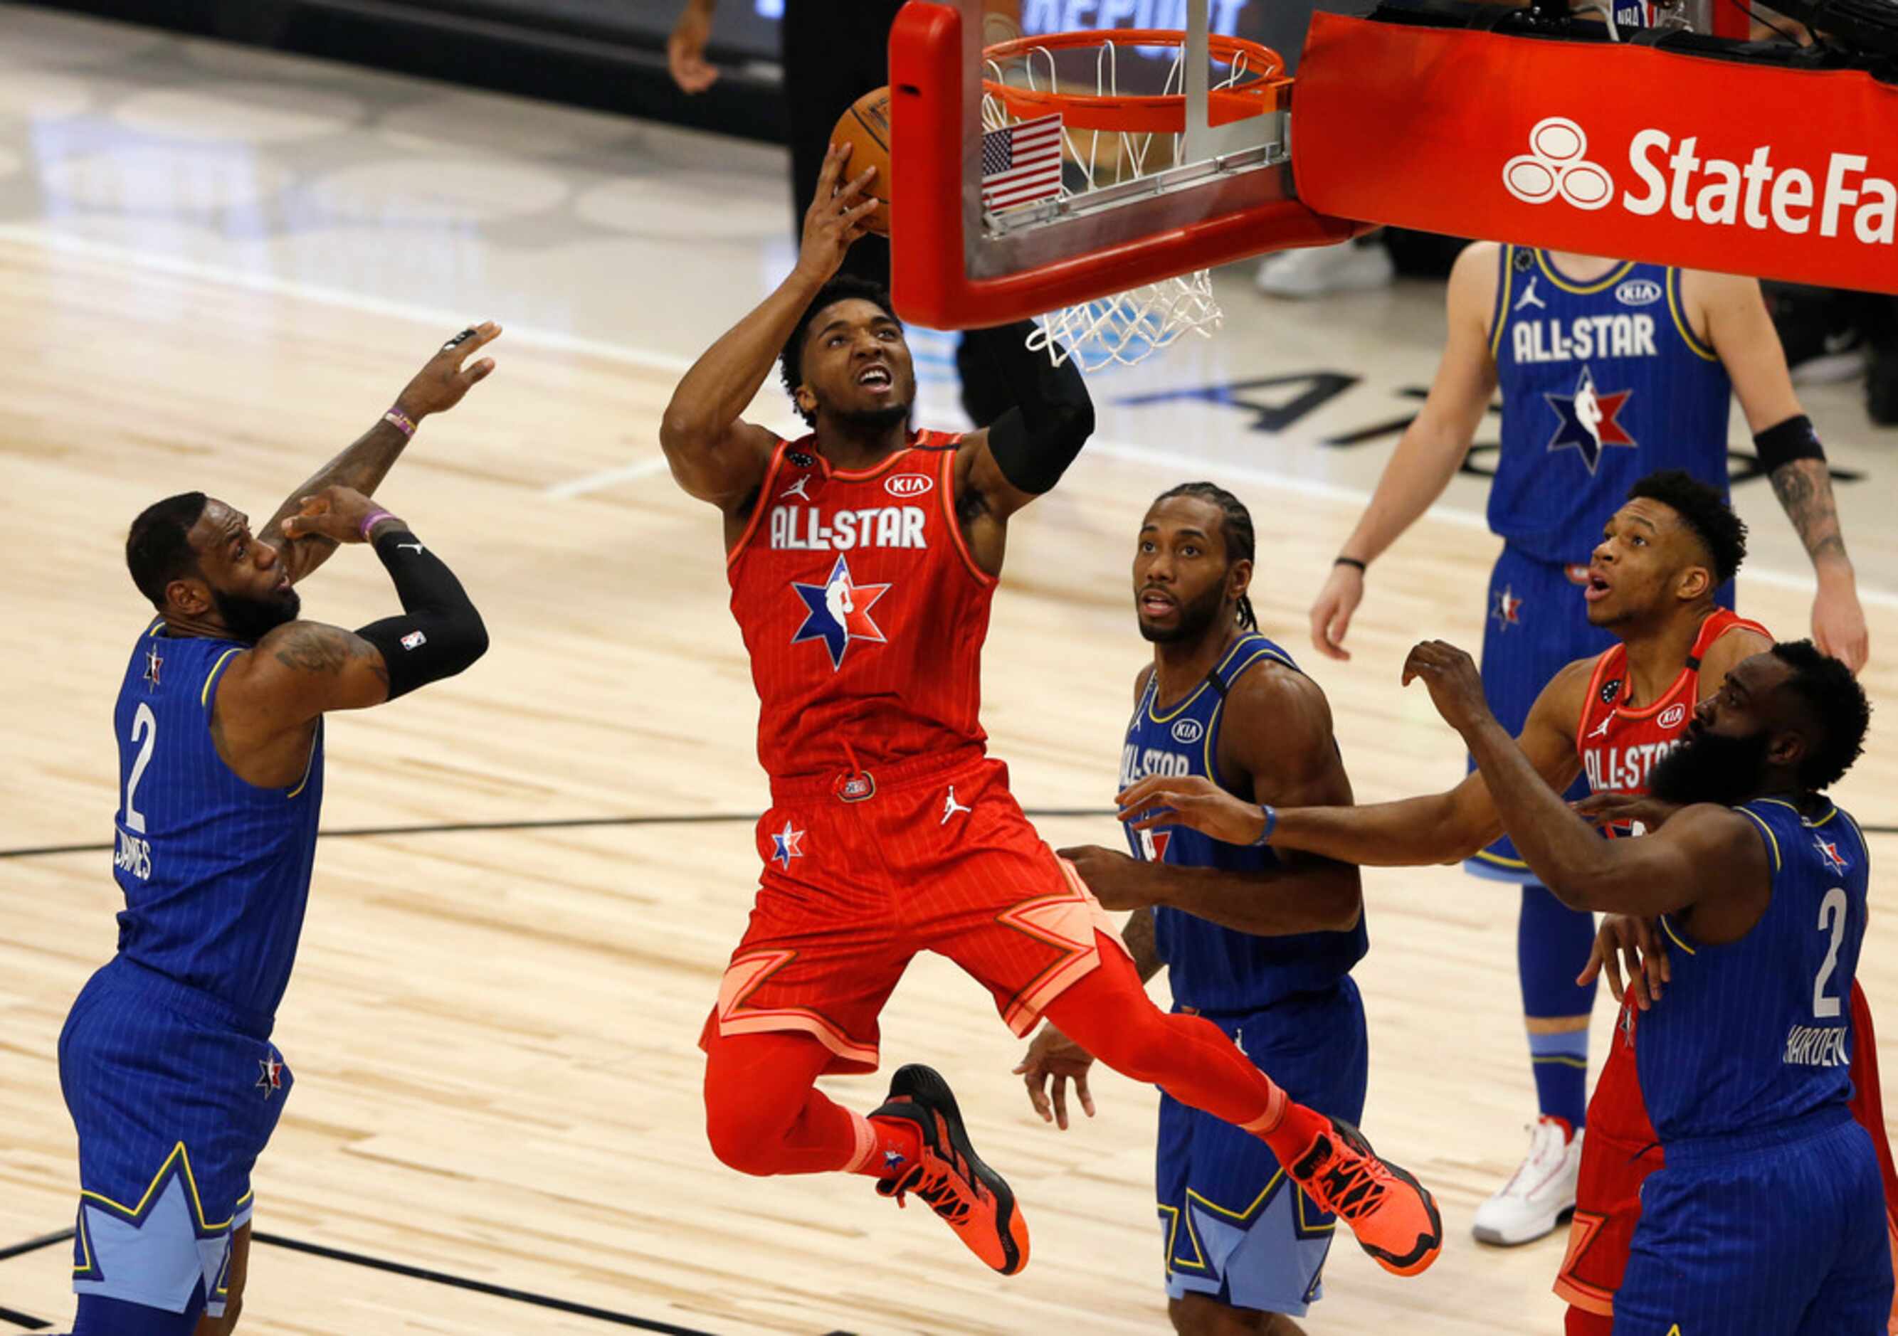
M175 277L199 279L205 283L220 283L224 287L247 288L252 292L268 292L271 296L288 296L302 302L315 302L319 306L344 307L353 311L363 311L368 315L385 315L393 319L410 321L416 325L433 325L437 328L448 328L454 325L465 325L469 317L448 315L444 311L425 307L410 302L391 302L387 298L364 296L359 292L345 292L342 288L330 288L315 283L300 283L296 279L283 279L273 273L254 273L249 269L233 269L220 264L209 264L205 260L188 260L182 256L159 256L142 254L127 247L116 247L104 241L91 241L87 237L68 237L59 232L47 232L42 224L27 222L6 222L0 224L0 241L11 241L17 245L38 247L42 250L53 250L61 254L74 254L93 260L108 260L114 264L125 264L135 269L150 269L156 273L171 273ZM562 334L558 330L541 330L533 326L507 326L509 338L516 343L528 343L530 347L543 347L552 351L581 353L585 357L598 357L609 362L621 362L624 366L638 366L642 370L670 372L683 376L693 364L691 359L676 357L672 353L659 353L649 347L638 347L632 343L613 343L607 340L583 338L579 334ZM1118 459L1122 463L1137 463L1150 469L1163 469L1167 473L1186 471L1192 474L1201 474L1207 471L1205 459L1194 459L1171 450L1154 450L1152 446L1137 446L1118 440L1089 440L1088 452L1107 459ZM647 478L655 473L662 473L666 461L662 457L655 459L651 455L643 459L630 459L626 463L611 465L596 473L581 474L577 478L568 478L564 482L554 482L543 488L543 495L550 499L571 501L575 497L588 495L602 488ZM1317 478L1300 478L1296 474L1275 473L1272 469L1258 469L1243 463L1219 463L1219 471L1226 478L1239 482L1251 482L1256 486L1275 488L1279 492L1291 492L1293 495L1310 495L1327 501L1353 501L1357 505L1368 505L1370 493L1359 488L1348 488L1336 482L1321 482ZM1467 510L1454 505L1433 505L1425 510L1424 518L1442 520L1465 529L1480 529L1488 533L1490 526L1482 512ZM1811 571L1792 573L1778 571L1773 567L1748 567L1744 571L1746 581L1758 581L1759 584L1769 584L1775 588L1786 588L1796 592L1811 592L1816 588L1816 577ZM1898 590L1879 588L1875 584L1858 584L1858 602L1873 603L1877 607L1898 609Z

